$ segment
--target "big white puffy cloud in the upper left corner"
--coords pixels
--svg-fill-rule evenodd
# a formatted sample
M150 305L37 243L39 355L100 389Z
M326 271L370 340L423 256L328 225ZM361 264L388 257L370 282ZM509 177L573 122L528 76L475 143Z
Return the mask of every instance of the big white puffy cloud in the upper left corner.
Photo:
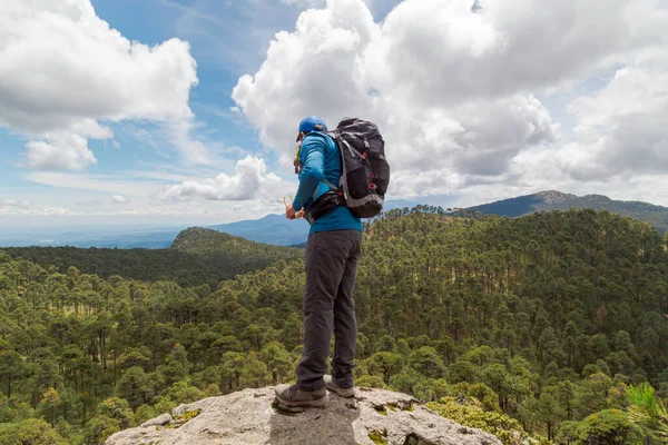
M96 162L87 139L105 122L167 122L193 160L188 132L197 83L189 46L149 47L99 19L89 0L6 0L0 6L0 126L26 135L27 167L81 170Z

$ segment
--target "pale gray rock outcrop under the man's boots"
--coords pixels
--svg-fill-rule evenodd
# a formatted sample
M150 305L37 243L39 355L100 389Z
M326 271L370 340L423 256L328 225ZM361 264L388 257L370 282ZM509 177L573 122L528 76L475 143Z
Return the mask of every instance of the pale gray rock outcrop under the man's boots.
M288 412L274 388L244 389L180 405L106 445L501 445L493 435L445 419L411 396L357 388L330 394L324 408Z

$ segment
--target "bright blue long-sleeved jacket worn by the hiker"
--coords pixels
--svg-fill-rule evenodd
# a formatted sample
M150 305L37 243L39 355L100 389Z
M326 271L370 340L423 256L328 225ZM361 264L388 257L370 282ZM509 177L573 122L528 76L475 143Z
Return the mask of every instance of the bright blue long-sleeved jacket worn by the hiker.
M302 208L307 211L313 201L330 189L330 186L324 181L338 187L341 155L334 139L317 131L312 131L304 138L299 161L303 169L299 172L299 188L295 195L293 207L295 211L299 211ZM362 231L362 220L355 217L345 206L338 206L313 222L310 233L344 229Z

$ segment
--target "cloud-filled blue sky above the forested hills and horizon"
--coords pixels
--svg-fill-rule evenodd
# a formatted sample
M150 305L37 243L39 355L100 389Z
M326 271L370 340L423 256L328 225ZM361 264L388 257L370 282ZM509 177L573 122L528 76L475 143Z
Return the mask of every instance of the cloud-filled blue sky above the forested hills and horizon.
M299 120L375 122L389 199L668 206L666 0L3 0L0 228L283 209Z

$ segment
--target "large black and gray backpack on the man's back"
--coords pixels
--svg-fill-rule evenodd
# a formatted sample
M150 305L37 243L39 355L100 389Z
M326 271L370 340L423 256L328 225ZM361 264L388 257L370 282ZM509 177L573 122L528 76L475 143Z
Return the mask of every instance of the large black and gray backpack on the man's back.
M373 218L383 209L390 185L385 141L375 123L344 118L334 131L324 132L336 141L341 154L341 180L313 202L313 222L336 206L346 206L357 218Z

